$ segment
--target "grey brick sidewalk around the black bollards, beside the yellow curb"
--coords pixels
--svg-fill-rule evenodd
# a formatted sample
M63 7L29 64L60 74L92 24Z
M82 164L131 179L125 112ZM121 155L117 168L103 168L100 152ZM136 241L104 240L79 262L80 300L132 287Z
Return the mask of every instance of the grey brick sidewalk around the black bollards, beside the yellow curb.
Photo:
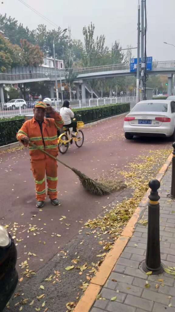
M162 263L175 267L175 201L167 198L170 188L171 168L168 168L159 192L160 251ZM145 208L142 219L148 218L148 207ZM147 231L148 225L136 225L102 288L101 295L106 300L96 300L91 312L175 312L175 276L165 272L146 275L140 270L146 257ZM112 297L116 300L111 301Z

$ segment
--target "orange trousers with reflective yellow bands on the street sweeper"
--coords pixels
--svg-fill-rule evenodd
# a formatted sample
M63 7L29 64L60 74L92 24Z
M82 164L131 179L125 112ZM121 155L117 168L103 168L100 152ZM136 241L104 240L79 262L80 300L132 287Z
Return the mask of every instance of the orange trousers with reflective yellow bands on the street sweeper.
M50 199L57 198L57 167L57 161L50 157L31 159L31 171L35 178L36 199L38 201L45 200L45 173L47 179L47 194Z

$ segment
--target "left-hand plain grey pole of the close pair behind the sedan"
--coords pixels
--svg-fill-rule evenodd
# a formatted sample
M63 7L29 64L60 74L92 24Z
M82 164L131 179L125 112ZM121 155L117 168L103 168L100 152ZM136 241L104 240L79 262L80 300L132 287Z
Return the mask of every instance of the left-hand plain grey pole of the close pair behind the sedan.
M138 1L136 104L140 101L139 83L140 83L140 3Z

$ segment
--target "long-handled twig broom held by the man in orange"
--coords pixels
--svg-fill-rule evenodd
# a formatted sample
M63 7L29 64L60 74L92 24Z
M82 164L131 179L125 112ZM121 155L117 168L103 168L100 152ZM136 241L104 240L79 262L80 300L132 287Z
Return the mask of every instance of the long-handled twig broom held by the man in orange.
M79 178L81 185L83 185L83 187L90 193L95 194L95 195L107 195L110 194L114 191L117 191L119 189L123 189L126 188L126 184L121 182L121 181L116 181L116 180L112 180L112 179L102 179L101 182L99 182L98 180L95 181L89 177L87 177L84 173L82 173L81 171L70 167L69 165L67 165L66 163L63 163L61 160L59 160L58 158L54 157L53 155L49 154L48 152L46 152L44 149L41 149L39 146L29 142L29 144L37 149L39 149L42 153L50 156L51 158L57 160L59 163L62 163L62 165L64 165L65 167L71 169Z

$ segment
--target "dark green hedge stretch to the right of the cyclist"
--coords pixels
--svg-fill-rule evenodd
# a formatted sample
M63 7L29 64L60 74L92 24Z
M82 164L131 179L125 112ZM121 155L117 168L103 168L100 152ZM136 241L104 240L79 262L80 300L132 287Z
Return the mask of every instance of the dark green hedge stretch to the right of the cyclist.
M73 110L76 115L81 115L77 117L78 120L83 121L85 124L99 119L119 115L130 111L130 103L122 104L111 104L111 105L102 105L95 107L86 107L82 109Z

